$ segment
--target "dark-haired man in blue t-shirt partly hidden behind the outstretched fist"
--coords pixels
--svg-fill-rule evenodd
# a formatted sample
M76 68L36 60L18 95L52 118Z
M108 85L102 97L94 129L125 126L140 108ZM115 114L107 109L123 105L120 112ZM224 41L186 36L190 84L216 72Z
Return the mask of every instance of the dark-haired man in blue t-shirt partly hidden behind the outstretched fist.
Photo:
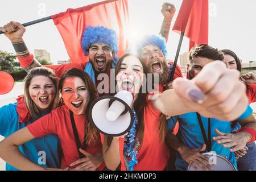
M224 60L224 54L207 45L193 47L189 52L187 66L189 79L192 80L196 77L205 65L214 60ZM214 74L214 71L209 74ZM241 90L241 92L245 92L245 90ZM232 94L233 97L236 97L235 93ZM229 108L222 110L228 111ZM216 112L218 111L216 110ZM236 121L240 123L242 130L235 134L231 133L230 122L220 121L216 118L205 118L198 113L186 113L168 119L167 142L176 150L176 169L186 170L189 164L195 169L199 167L204 170L211 169L209 159L201 154L201 152L210 151L224 155L236 167L234 152L241 150L246 143L255 140L256 120L252 112L253 110L248 105L246 111L240 118L237 118ZM178 119L179 132L174 135L172 130Z

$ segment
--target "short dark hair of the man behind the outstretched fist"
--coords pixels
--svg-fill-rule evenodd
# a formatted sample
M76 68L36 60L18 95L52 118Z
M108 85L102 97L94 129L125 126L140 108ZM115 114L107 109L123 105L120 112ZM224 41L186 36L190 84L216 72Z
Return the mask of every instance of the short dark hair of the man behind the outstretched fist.
M217 48L213 48L206 44L195 46L189 51L189 62L193 61L195 57L205 57L212 60L224 60L224 53Z

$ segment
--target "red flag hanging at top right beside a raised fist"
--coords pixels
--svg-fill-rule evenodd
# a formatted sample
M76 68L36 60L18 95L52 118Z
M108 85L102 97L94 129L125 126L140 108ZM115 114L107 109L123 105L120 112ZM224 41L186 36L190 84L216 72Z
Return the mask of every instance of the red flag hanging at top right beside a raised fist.
M173 31L189 38L189 50L199 44L208 44L208 0L183 0Z

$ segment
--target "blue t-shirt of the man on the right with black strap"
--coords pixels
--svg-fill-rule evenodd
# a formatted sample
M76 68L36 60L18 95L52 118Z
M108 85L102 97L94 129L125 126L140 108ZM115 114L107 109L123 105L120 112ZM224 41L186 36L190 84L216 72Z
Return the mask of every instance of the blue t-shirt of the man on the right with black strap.
M253 113L253 109L248 105L246 111L238 119L245 119ZM208 136L208 118L201 115L201 119L204 125L204 130ZM196 113L186 113L181 115L176 115L167 120L167 129L173 130L176 122L179 121L179 132L177 133L177 138L181 143L190 148L201 148L203 146L204 139L201 133L199 121L197 119ZM214 131L218 129L222 133L231 133L232 127L231 122L220 121L218 119L210 118L210 128L211 128L211 139L217 137L218 135ZM227 159L230 160L237 167L236 157L234 152L229 151L230 148L222 147L222 144L218 144L212 139L212 151L215 151L218 155L225 155ZM186 170L188 163L183 160L179 152L176 152L175 167L177 170Z

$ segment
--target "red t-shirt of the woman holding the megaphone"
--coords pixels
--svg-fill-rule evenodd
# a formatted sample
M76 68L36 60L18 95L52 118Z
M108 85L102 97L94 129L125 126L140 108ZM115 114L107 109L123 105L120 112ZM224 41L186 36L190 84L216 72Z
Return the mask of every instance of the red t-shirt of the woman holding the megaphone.
M167 166L170 152L166 143L160 140L160 114L147 98L144 107L144 137L137 155L138 164L134 166L136 171L162 171Z

